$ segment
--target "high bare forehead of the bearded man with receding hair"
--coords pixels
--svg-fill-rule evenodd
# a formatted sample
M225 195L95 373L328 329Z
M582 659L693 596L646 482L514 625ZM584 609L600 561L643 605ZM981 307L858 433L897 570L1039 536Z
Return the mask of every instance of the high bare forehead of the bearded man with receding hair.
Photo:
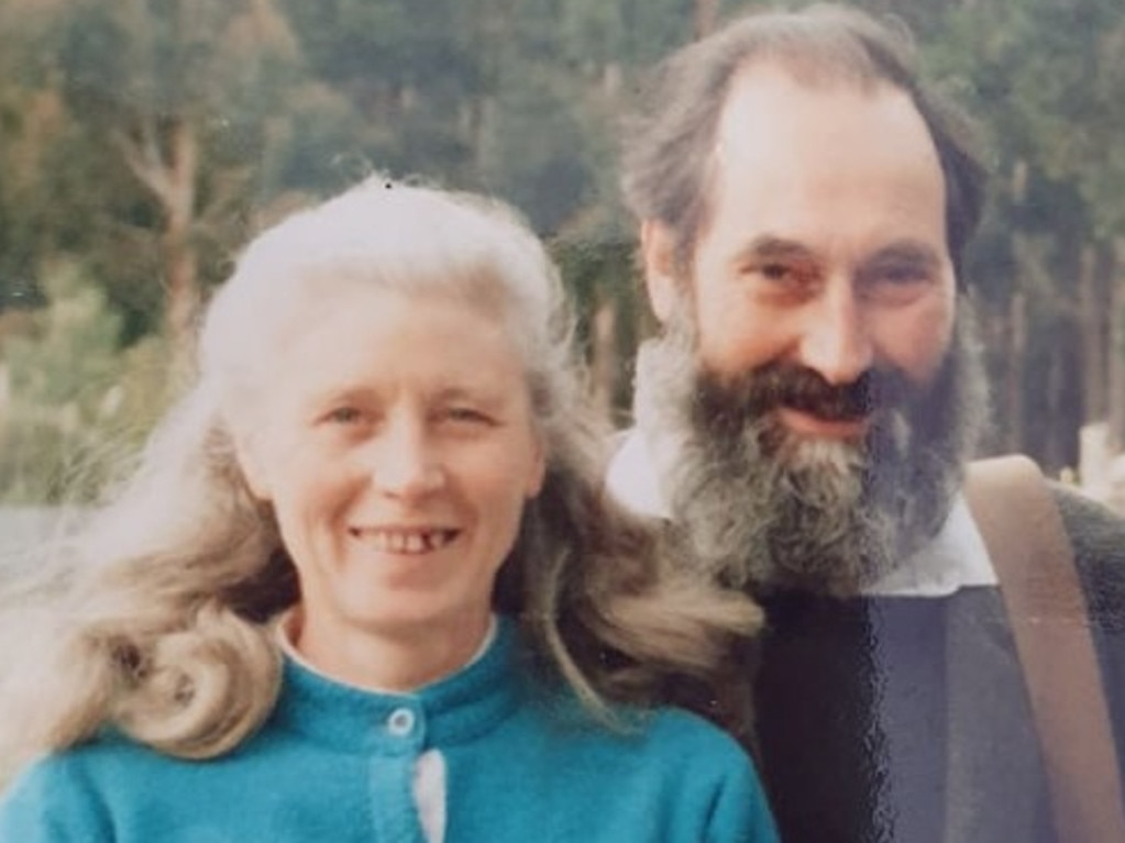
M892 243L924 244L915 251L928 255L948 245L934 138L910 94L874 76L747 65L705 178L694 246L711 237L728 260L764 236L852 261Z

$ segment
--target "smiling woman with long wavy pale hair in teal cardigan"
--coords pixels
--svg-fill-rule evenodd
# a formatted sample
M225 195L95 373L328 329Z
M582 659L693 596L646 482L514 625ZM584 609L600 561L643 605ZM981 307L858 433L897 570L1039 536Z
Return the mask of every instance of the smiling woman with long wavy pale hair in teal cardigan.
M739 746L648 706L757 609L603 497L569 329L482 199L371 180L251 243L21 623L0 839L774 840Z

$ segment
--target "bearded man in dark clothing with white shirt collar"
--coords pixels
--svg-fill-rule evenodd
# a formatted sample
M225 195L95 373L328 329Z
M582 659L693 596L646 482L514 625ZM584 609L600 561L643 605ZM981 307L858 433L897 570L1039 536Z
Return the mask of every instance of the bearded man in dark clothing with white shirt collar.
M766 607L745 673L782 839L1109 840L1113 818L1076 806L1120 797L1125 524L1060 489L1052 505L1035 475L1079 608L1055 626L1012 609L998 558L1020 531L984 535L965 495L986 406L966 124L900 31L832 7L735 21L656 82L623 182L663 332L609 482ZM1004 520L999 488L979 497ZM1041 700L1043 644L1025 656L1022 625L1062 631L1048 650L1086 634L1092 690L1071 696L1100 706L1108 780L1056 763L1068 743L1084 763L1066 729L1090 718ZM1069 681L1058 652L1048 686Z

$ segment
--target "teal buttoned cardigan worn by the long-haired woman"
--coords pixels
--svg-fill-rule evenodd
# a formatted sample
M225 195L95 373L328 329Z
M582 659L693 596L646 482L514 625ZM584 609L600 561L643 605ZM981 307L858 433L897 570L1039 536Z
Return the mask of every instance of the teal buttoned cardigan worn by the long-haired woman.
M2 843L426 843L417 756L446 762L444 843L776 841L748 758L684 711L593 723L530 687L514 624L466 670L411 695L294 661L264 726L183 761L102 737L30 767L0 806ZM408 714L404 714L408 713Z

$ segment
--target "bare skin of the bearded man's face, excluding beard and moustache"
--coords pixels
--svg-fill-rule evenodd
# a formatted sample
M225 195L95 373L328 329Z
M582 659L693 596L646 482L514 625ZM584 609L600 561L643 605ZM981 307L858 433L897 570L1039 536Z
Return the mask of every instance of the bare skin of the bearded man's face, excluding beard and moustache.
M955 282L942 170L906 93L810 88L753 66L731 88L711 183L687 291L704 370L720 380L807 370L831 387L872 372L934 378ZM660 315L682 280L666 233L646 234ZM862 404L792 400L772 413L792 436L855 442L874 409Z

